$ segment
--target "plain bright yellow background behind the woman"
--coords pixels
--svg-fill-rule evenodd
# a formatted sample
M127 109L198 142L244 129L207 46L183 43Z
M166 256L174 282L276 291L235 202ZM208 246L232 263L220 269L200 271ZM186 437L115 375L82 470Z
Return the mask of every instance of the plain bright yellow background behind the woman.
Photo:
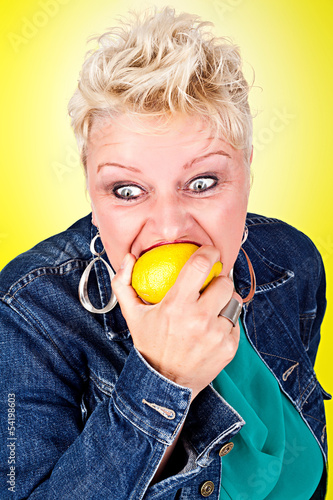
M86 39L115 24L139 0L24 0L1 19L0 268L89 212L66 106ZM157 0L155 5L164 2ZM212 20L242 49L256 87L250 210L281 218L321 251L328 309L316 371L333 391L332 13L330 0L174 0ZM330 461L333 403L326 404ZM331 430L331 432L330 432ZM329 480L333 483L333 479ZM333 498L330 486L328 498Z

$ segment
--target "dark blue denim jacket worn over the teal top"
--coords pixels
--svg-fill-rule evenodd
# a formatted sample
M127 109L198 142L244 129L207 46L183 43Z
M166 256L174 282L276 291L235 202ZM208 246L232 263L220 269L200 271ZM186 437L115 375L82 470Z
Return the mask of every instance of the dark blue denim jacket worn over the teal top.
M119 305L103 315L83 309L77 290L92 258L90 221L39 243L0 274L0 497L196 500L211 481L210 499L218 500L219 452L245 422L211 386L190 405L190 389L133 347ZM279 220L249 214L247 225L257 288L243 307L246 334L326 459L329 395L313 370L326 304L320 255ZM243 252L234 279L246 296ZM91 273L89 295L96 307L108 302L103 265ZM180 470L149 486L184 421Z

